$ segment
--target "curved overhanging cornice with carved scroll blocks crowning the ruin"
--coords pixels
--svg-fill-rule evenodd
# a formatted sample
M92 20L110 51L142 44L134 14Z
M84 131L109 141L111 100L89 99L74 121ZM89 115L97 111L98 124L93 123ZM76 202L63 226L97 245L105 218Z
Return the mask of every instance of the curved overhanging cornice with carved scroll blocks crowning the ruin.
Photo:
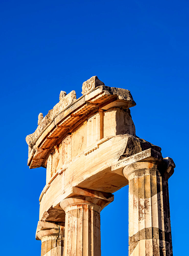
M90 83L91 86L89 86ZM104 86L96 76L84 82L82 89L84 95L79 99L76 99L75 91L67 95L61 91L60 101L53 109L44 118L42 113L39 114L39 125L36 131L26 137L30 168L46 167L45 158L57 140L68 132L72 132L89 115L98 110L109 109L112 104L125 109L136 105L130 91Z

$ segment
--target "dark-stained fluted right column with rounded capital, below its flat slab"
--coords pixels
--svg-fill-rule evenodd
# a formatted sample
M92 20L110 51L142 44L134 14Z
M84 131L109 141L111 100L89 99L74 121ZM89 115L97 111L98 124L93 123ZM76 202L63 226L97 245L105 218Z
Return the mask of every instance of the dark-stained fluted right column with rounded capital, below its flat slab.
M168 178L174 167L171 158L160 157L140 159L123 169L129 180L130 256L173 255Z

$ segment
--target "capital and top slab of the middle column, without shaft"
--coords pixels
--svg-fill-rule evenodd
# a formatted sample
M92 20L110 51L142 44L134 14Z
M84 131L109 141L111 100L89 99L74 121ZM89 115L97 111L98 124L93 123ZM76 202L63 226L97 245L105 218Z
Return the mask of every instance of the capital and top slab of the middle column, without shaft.
M91 189L77 188L74 197L68 197L60 202L60 207L68 212L74 209L91 209L97 212L114 200L111 193L99 192Z

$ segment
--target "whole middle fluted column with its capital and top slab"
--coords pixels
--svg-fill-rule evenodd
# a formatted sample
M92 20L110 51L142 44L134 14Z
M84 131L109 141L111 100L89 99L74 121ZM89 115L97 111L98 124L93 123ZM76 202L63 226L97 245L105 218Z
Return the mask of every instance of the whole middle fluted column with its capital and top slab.
M80 196L66 198L64 256L100 256L100 211L113 201L110 193L82 189Z

